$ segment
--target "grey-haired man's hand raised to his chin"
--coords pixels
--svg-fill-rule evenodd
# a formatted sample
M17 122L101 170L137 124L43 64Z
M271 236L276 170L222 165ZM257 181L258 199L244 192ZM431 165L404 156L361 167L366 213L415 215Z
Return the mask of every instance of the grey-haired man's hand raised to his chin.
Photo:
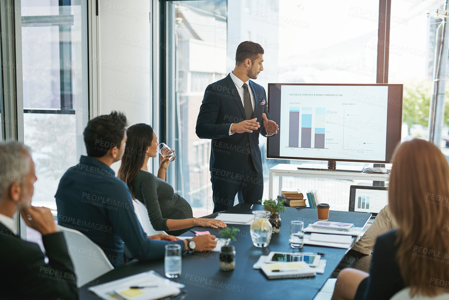
M42 235L57 232L52 211L47 207L30 206L20 210L26 225L36 229Z

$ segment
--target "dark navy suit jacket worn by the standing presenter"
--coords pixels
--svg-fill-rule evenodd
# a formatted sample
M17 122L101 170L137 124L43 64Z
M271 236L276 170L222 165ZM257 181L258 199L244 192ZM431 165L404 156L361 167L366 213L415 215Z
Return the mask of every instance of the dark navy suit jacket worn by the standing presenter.
M212 139L209 170L213 174L232 177L242 174L251 153L255 170L262 172L262 157L259 148L259 134L266 135L262 113L269 119L265 89L253 81L249 86L254 94L255 108L251 119L257 118L258 130L252 133L229 135L232 123L245 121L245 108L230 74L208 85L199 109L196 134L200 139Z

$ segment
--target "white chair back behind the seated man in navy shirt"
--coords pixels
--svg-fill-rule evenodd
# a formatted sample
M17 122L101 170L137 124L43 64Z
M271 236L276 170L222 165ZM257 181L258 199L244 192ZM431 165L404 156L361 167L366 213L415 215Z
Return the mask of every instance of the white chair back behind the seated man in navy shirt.
M91 280L114 269L105 252L78 230L57 225L64 233L67 249L76 274L76 286L82 287Z

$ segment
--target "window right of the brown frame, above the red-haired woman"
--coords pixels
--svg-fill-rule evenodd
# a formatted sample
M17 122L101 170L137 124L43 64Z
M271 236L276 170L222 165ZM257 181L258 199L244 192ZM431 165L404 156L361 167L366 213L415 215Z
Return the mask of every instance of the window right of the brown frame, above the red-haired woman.
M444 0L392 1L388 82L404 84L402 140L428 139L436 28L441 21L433 15L444 3ZM440 148L449 148L447 102L446 107Z

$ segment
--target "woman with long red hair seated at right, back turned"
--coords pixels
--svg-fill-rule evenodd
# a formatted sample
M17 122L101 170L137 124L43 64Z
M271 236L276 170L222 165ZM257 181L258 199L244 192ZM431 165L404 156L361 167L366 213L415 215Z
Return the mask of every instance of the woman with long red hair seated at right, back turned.
M449 282L448 162L433 143L413 139L396 148L392 164L388 204L397 228L377 238L369 274L339 273L332 300L390 299L404 287L410 296L447 292L440 282Z

